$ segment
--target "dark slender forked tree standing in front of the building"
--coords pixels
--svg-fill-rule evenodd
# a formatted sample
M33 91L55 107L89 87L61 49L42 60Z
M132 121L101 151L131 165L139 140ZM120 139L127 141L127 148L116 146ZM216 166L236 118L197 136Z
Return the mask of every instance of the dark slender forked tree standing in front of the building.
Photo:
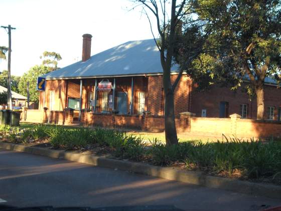
M157 21L159 40L155 42L160 51L161 65L163 68L163 87L165 94L165 136L166 144L178 143L175 111L174 111L174 92L184 71L197 56L204 52L205 41L210 34L209 23L205 23L195 18L195 13L199 8L196 1L183 0L171 3L156 0L136 0L143 6L143 11L149 19L149 12ZM170 18L168 10L170 11ZM151 25L152 28L152 25ZM183 30L183 31L182 31ZM152 32L153 33L153 32ZM179 73L174 82L171 80L171 67L176 63L181 64Z

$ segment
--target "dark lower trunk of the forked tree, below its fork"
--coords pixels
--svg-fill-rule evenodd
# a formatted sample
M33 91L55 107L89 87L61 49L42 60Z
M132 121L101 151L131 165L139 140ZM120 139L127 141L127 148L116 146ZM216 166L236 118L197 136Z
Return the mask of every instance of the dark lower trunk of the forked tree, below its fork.
M166 145L178 144L175 122L174 93L165 93L165 137Z

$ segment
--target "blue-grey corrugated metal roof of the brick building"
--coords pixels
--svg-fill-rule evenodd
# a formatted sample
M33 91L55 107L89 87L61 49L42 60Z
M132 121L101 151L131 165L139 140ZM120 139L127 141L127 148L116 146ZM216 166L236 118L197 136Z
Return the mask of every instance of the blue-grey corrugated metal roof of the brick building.
M177 66L172 67L172 72ZM162 73L160 52L154 39L130 41L100 52L85 62L79 61L55 70L47 79L83 78Z

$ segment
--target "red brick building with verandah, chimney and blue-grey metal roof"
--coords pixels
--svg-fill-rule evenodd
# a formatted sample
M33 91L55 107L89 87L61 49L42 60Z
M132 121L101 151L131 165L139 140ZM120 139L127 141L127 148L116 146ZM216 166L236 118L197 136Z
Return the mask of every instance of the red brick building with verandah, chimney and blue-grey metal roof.
M82 61L46 74L46 89L40 93L40 110L74 109L74 120L87 124L144 127L144 112L151 127L163 125L164 91L160 53L154 40L130 41L90 56L91 38L83 35ZM171 71L177 76L177 66ZM266 79L265 113L269 120L280 120L281 92ZM175 91L176 123L180 113L196 117L229 118L240 114L256 118L256 101L238 89L214 87L198 92L192 79L183 74ZM114 116L114 117L113 117ZM148 121L148 119L146 119Z

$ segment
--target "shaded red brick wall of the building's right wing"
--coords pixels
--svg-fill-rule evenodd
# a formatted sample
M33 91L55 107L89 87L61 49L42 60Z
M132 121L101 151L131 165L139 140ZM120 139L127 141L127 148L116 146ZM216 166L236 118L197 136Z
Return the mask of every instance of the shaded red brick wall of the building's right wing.
M207 110L207 117L219 117L220 101L228 101L230 114L240 113L240 104L248 104L249 119L256 119L257 104L256 99L249 100L248 94L238 88L236 91L230 90L228 87L215 86L204 92L196 91L194 87L192 92L191 112L196 114L196 117L201 117L202 109ZM281 89L275 86L265 85L264 88L264 115L268 106L275 107L274 120L277 120L278 108L281 107Z

